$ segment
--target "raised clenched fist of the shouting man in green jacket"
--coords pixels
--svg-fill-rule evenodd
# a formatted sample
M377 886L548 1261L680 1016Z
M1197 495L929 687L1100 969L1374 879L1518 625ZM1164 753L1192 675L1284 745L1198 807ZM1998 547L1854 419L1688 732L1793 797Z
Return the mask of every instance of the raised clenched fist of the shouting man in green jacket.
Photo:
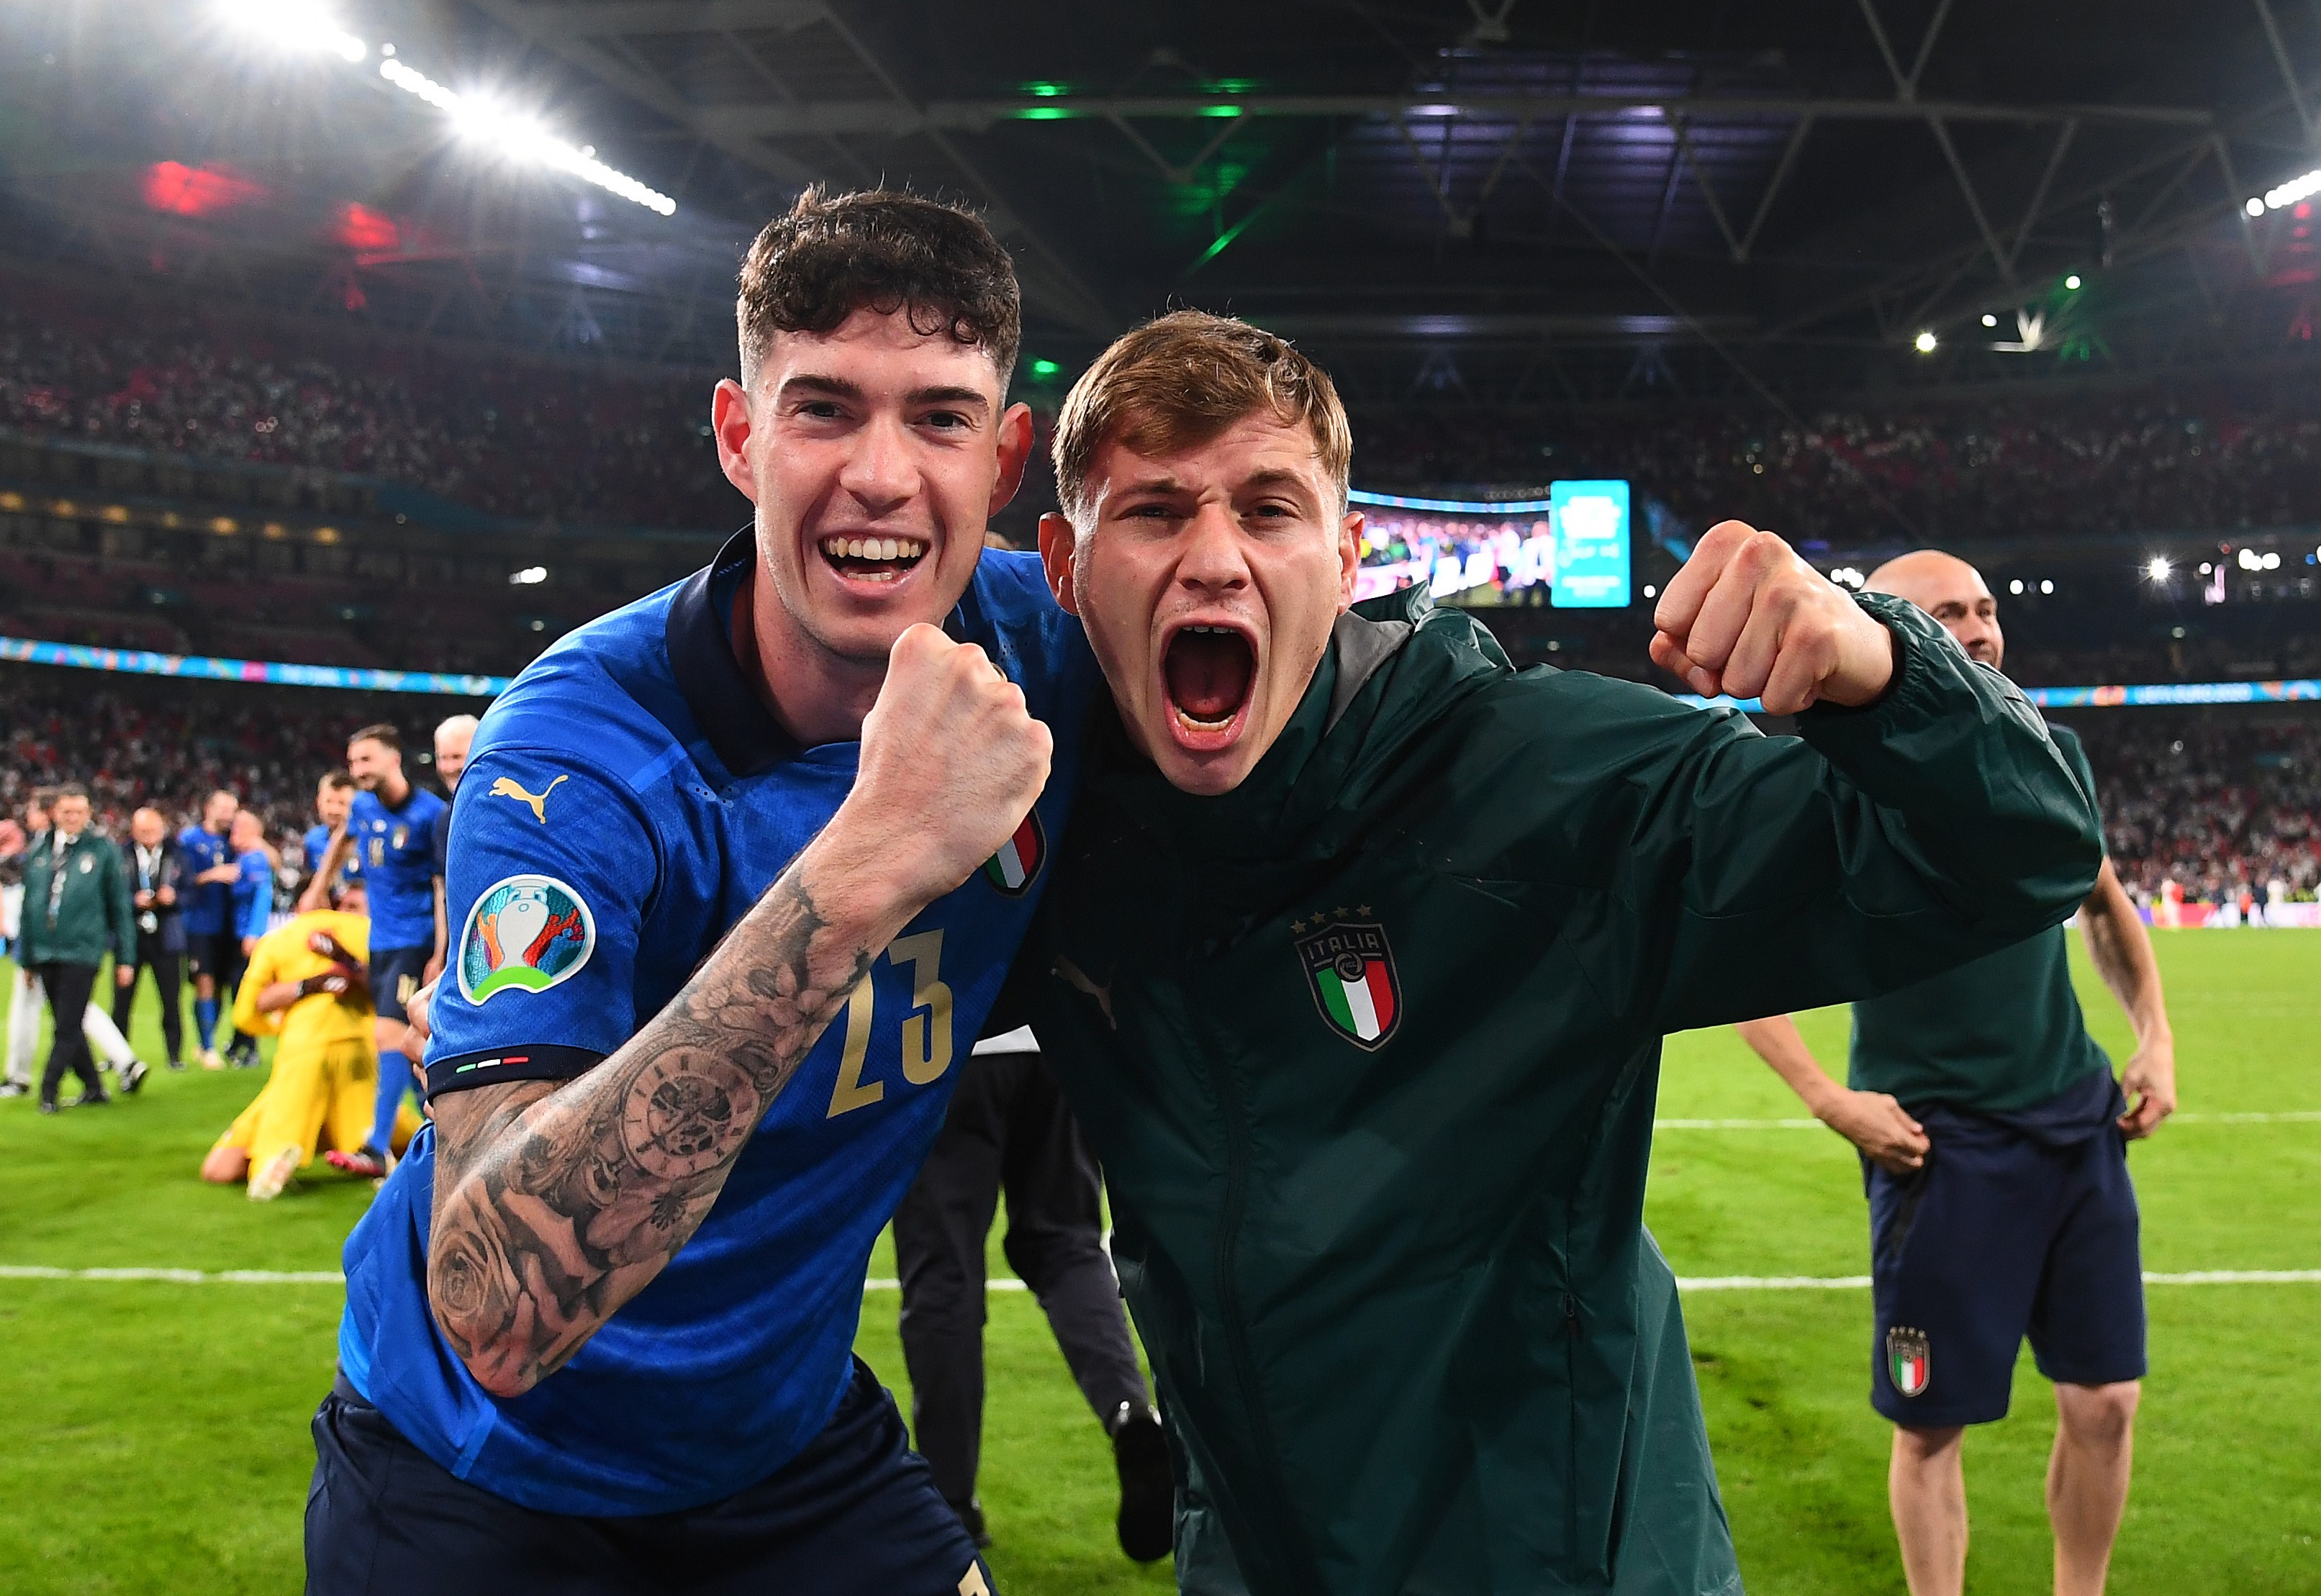
M1894 680L1894 633L1771 531L1718 522L1653 610L1653 663L1692 691L1796 714L1864 705Z

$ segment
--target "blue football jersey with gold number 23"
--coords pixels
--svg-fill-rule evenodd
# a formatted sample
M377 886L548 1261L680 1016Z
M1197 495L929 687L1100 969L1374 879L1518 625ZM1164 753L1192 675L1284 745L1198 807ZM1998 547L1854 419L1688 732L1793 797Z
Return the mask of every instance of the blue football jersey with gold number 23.
M722 617L752 559L745 531L550 647L483 717L453 807L429 1093L569 1079L627 1044L852 789L861 745L796 747L733 661ZM764 1480L829 1422L870 1243L1047 886L1100 687L1031 557L986 552L947 629L1054 731L1047 791L880 956L668 1267L504 1401L427 1311L432 1130L348 1239L341 1369L455 1475L545 1512L671 1512Z

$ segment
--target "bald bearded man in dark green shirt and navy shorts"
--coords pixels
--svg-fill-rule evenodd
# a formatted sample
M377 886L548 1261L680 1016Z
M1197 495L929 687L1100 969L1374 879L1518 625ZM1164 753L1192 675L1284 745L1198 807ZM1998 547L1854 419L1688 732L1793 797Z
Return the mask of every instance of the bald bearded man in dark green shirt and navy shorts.
M1871 573L1998 668L1998 601L1964 559L1919 550ZM2063 726L2054 740L2094 793ZM2005 1417L2024 1336L2054 1380L2054 1589L2094 1596L2128 1501L2145 1376L2145 1264L2126 1144L2175 1111L2175 1037L2152 935L2103 865L2087 953L2135 1028L2135 1058L2087 1035L2063 928L1854 1004L1850 1088L1787 1016L1741 1037L1861 1148L1871 1199L1871 1406L1894 1422L1887 1499L1915 1596L1966 1589L1966 1424ZM2126 1093L2135 1093L2128 1109Z

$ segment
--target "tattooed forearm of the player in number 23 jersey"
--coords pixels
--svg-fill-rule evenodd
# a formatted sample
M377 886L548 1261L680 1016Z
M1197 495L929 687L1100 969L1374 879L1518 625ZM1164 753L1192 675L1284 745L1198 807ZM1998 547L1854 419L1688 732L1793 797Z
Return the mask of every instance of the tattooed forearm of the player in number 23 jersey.
M427 1294L485 1390L538 1385L668 1264L898 926L833 926L801 856L596 1069L436 1104Z

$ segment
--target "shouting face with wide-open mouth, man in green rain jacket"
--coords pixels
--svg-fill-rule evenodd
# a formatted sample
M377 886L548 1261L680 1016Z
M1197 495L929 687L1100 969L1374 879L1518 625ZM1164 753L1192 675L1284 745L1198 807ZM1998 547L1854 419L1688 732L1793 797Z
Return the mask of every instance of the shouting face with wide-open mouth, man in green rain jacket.
M1362 517L1304 425L1258 411L1207 443L1096 450L1079 531L1040 520L1130 740L1174 786L1228 793L1304 698L1353 603Z

